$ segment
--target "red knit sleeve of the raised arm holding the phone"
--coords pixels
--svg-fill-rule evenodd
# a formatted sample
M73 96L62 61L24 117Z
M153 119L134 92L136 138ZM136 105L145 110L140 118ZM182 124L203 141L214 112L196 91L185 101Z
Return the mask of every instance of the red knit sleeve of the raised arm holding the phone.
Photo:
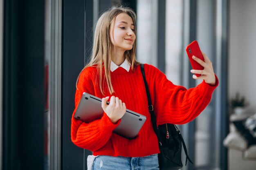
M186 89L174 85L157 68L145 64L145 74L150 84L150 96L154 104L157 124L186 124L195 119L211 101L215 86L205 81L195 88Z

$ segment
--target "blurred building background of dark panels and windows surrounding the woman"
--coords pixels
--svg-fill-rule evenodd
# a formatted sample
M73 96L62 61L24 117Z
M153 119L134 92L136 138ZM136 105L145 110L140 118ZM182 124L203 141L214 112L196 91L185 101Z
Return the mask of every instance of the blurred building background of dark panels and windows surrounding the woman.
M76 78L97 19L117 4L137 14L139 62L174 84L201 82L185 52L193 40L213 62L211 103L179 126L194 162L182 170L255 170L255 0L0 0L0 169L87 169L92 153L70 137Z

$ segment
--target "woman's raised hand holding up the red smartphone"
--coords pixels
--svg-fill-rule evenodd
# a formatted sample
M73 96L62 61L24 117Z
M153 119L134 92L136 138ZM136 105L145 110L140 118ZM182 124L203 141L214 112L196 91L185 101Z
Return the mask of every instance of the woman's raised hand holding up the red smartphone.
M192 57L193 60L195 60L201 66L204 67L203 70L191 70L191 73L201 75L200 77L193 75L193 79L204 79L206 83L210 84L211 86L214 86L216 84L216 77L213 71L212 62L209 60L209 58L204 52L202 52L202 55L204 57L204 61L200 60L198 57L195 57L194 55Z

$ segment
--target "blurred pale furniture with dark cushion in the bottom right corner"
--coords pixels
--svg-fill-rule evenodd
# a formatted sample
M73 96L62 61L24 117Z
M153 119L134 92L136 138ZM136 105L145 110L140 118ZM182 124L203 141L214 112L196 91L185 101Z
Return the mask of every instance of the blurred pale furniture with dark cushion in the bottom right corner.
M230 132L223 144L228 148L229 170L255 170L256 144L255 138L246 134L243 127L245 120L251 115L243 114L230 116Z

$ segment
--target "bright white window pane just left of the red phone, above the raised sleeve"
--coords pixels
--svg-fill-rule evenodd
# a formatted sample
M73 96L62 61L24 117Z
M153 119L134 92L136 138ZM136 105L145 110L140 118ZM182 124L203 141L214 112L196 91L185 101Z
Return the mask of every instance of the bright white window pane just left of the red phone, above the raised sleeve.
M166 76L181 83L183 1L166 0Z

